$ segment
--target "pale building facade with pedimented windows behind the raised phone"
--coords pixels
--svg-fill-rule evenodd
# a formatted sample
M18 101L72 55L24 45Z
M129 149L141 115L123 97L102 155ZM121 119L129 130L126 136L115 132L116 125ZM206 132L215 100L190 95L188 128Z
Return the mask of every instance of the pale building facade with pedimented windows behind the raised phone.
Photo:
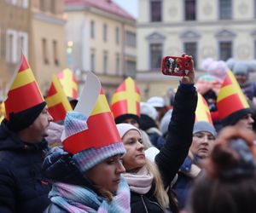
M256 59L255 23L256 0L139 0L137 81L143 95L165 95L177 86L177 78L159 75L164 55L193 55L196 75L207 57Z

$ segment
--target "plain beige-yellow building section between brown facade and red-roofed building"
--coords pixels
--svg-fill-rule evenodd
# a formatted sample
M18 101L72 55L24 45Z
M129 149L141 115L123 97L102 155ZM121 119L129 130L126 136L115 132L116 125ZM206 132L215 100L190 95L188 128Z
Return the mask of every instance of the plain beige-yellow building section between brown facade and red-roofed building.
M29 60L42 92L46 93L53 73L67 67L63 0L31 1Z

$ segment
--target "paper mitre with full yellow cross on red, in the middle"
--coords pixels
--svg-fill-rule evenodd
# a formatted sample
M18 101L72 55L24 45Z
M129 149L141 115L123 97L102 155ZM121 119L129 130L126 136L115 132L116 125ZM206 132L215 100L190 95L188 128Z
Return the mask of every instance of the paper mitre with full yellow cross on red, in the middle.
M123 115L134 115L140 117L140 90L135 81L128 77L121 83L113 94L111 111L115 119Z

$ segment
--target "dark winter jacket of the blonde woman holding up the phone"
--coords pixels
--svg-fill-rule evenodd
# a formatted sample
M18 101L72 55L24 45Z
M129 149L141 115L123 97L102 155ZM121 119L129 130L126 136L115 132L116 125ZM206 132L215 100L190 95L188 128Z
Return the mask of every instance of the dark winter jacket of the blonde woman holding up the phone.
M165 188L169 187L179 167L189 153L195 122L197 94L193 85L181 84L177 89L171 123L164 147L155 157ZM140 195L131 192L131 212L165 212L153 196L154 185L148 193ZM172 209L171 209L172 210Z

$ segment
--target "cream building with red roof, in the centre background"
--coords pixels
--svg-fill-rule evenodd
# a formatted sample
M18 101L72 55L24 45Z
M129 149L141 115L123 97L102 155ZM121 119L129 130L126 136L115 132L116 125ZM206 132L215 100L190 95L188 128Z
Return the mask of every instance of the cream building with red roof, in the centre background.
M66 0L67 63L83 84L95 72L107 97L137 66L136 20L110 0Z

